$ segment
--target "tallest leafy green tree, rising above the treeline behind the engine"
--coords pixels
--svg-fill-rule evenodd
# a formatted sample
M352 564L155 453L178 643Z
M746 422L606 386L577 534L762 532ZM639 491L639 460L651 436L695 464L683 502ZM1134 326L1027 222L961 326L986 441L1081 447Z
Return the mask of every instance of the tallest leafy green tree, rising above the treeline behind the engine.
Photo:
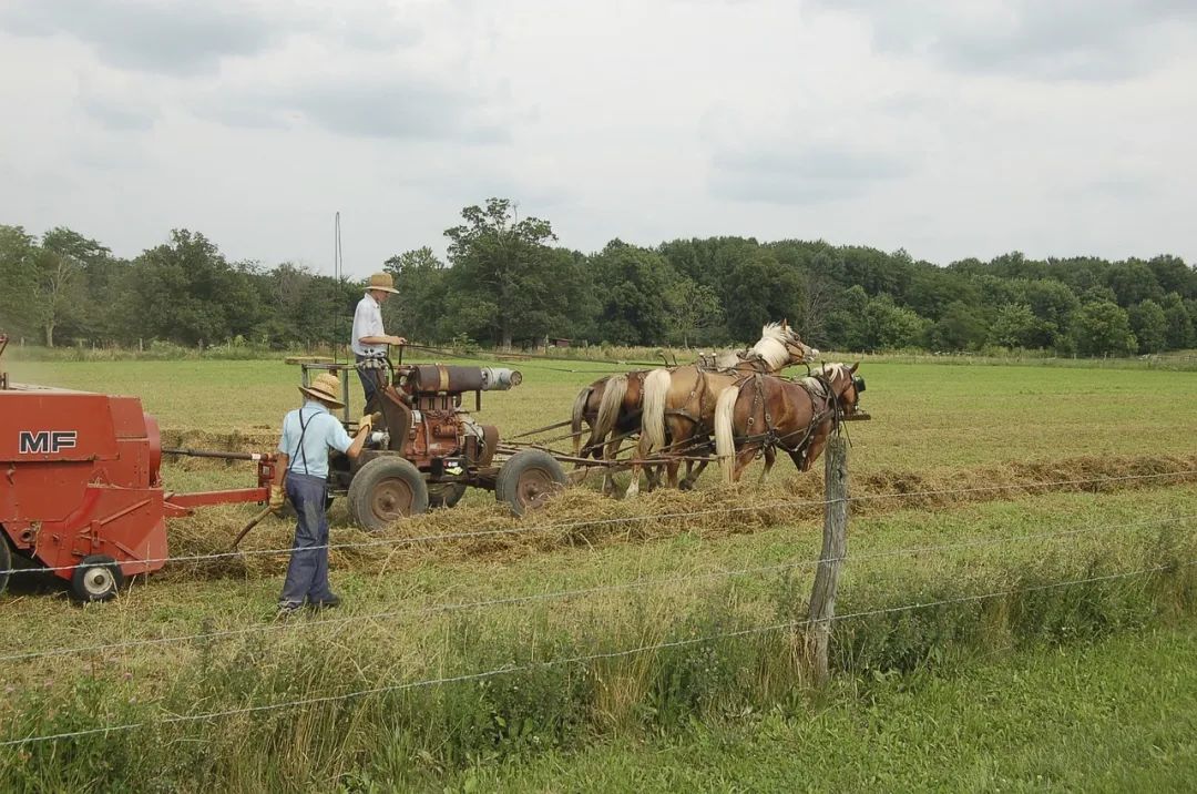
M445 230L452 262L451 308L463 322L504 348L515 337L536 339L567 325L577 274L572 259L552 250L547 220L516 217L508 199L461 211L466 223Z

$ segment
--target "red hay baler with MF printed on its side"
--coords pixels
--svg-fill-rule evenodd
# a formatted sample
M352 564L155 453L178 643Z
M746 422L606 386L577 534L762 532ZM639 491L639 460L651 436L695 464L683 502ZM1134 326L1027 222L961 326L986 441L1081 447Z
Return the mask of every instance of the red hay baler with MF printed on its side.
M267 499L273 457L247 457L257 460L257 487L169 493L158 423L139 399L0 375L0 592L17 554L68 581L80 600L111 598L126 577L165 564L166 517Z

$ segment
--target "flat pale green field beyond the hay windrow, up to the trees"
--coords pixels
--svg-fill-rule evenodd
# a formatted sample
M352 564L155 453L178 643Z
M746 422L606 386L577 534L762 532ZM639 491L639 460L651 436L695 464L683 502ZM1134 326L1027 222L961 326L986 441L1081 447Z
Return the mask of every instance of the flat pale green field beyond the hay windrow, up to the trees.
M478 414L503 435L569 418L578 389L613 369L540 360L514 365L523 371L523 384L484 394ZM280 360L8 366L17 381L139 395L168 441L273 447L282 414L299 399L298 368ZM875 420L851 426L853 471L942 475L1010 461L1197 451L1195 372L870 360L861 374L868 382L862 405Z

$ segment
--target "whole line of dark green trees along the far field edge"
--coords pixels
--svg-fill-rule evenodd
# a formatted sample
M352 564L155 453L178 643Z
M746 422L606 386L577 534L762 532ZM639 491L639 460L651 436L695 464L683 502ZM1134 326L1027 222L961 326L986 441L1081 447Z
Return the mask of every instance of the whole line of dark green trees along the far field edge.
M425 247L382 265L400 290L385 305L389 332L431 344L716 346L788 317L810 344L852 351L1197 346L1197 269L1175 256L1013 253L940 267L905 250L741 237L614 240L583 254L503 199L462 220L445 232L448 261ZM0 332L49 346L340 343L360 295L360 284L288 262L230 262L187 230L123 260L69 229L37 238L0 225Z

